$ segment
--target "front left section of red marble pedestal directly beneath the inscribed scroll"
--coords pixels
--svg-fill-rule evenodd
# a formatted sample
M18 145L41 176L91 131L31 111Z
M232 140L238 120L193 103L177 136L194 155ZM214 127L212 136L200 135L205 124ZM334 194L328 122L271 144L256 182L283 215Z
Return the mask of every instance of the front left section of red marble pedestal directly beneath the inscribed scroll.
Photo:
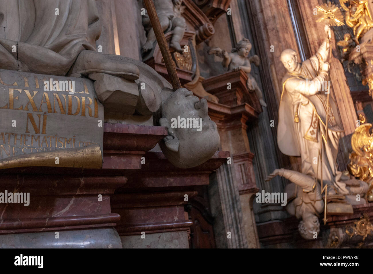
M29 205L0 204L0 246L121 248L110 195L126 184L124 171L141 169L141 157L166 134L165 127L105 123L102 169L2 170L1 192L28 192Z

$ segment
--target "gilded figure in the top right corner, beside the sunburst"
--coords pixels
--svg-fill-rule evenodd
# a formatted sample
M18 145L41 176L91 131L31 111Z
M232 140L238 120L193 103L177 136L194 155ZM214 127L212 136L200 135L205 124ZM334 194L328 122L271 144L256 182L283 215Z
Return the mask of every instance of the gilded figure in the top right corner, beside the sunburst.
M355 42L373 26L373 19L368 8L368 0L339 0L341 7L346 11L346 25L353 28Z

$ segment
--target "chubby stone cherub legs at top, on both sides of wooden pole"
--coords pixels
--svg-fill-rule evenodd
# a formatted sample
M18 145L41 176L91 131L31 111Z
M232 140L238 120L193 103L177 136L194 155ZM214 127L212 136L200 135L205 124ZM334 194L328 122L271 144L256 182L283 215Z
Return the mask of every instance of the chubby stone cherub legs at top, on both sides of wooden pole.
M179 53L183 52L180 46L180 41L184 36L186 23L185 19L181 16L182 0L154 0L154 6L156 7L159 23L164 33L173 31L170 46L175 48ZM144 52L147 52L153 48L153 43L156 41L156 35L151 27L150 19L148 14L142 16L142 25L147 32L147 40L142 47Z

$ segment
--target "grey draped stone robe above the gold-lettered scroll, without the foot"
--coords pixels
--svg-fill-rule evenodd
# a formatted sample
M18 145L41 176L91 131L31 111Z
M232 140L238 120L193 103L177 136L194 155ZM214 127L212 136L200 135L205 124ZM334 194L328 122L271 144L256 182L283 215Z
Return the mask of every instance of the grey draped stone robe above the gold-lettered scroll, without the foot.
M82 50L96 50L101 23L95 5L95 0L0 0L0 68L66 75Z

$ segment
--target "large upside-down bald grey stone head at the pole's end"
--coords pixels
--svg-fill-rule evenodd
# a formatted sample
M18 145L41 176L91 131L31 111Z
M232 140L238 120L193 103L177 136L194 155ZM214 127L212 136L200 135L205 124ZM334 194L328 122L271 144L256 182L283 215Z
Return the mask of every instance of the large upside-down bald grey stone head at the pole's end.
M159 124L167 127L168 136L160 142L160 147L173 165L198 166L219 148L217 126L207 113L206 99L200 100L186 88L177 89L162 104Z

